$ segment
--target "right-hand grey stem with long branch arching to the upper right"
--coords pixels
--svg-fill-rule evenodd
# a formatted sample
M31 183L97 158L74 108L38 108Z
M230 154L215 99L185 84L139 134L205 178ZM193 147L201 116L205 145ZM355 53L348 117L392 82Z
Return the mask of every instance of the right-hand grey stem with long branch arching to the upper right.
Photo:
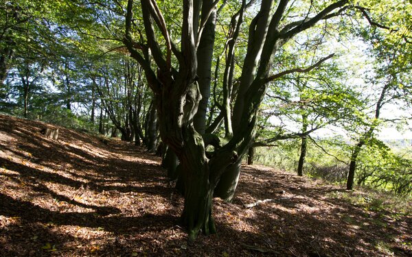
M285 25L283 29L279 29L279 23L286 10L288 0L279 1L271 19L269 19L269 14L273 1L262 1L260 12L249 26L247 55L240 77L238 96L233 107L233 138L227 144L227 147L236 149L238 158L242 158L254 140L259 106L266 92L266 84L271 81L269 73L273 64L274 54L290 38L312 27L321 19L330 17L328 16L330 12L341 8L346 3L347 0L337 1L328 5L328 7L311 19L305 19L299 23L293 22ZM240 169L236 172L240 173ZM239 178L236 172L231 169L230 172L222 174L218 184L218 187L223 188L219 191L222 195L216 192L215 195L222 197L226 201L233 199L233 195L230 195L230 192L234 192L233 185L236 185L237 182L227 183L227 181ZM225 186L227 188L224 188Z

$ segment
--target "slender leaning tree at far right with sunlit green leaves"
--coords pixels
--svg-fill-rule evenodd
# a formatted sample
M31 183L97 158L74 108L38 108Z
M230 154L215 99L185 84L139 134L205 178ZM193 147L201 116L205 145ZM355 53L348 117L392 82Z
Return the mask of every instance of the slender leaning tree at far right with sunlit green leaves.
M396 14L394 19L380 19L375 21L372 15L381 16L382 12L391 8ZM361 14L372 27L361 27L364 40L371 42L376 60L376 76L371 79L374 88L379 88L376 100L373 103L372 117L363 122L363 133L358 137L352 150L350 168L347 175L347 190L354 188L354 178L358 155L364 145L376 141L374 133L378 127L386 122L396 122L396 119L382 119L381 112L388 103L411 102L411 45L412 30L410 11L412 4L397 5L392 1L382 1L376 8L360 8ZM369 13L371 10L371 14ZM408 11L409 10L409 11ZM385 17L385 16L383 16ZM388 23L391 27L388 27ZM378 29L376 29L378 28Z

